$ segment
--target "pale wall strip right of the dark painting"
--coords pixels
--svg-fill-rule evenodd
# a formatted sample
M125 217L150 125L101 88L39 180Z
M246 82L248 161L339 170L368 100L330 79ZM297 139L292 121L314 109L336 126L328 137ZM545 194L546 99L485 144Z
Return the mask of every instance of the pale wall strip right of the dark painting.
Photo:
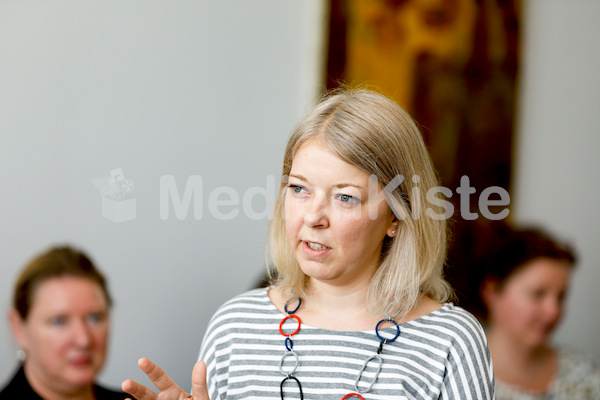
M600 2L525 1L513 212L580 261L558 343L600 357Z

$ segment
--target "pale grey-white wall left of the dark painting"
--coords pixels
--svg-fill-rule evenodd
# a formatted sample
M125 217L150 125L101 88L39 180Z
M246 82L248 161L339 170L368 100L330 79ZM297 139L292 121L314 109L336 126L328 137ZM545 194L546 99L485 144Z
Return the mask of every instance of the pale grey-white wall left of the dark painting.
M210 315L264 266L267 219L240 204L222 206L239 210L222 221L210 193L229 186L241 199L280 173L285 140L321 89L324 4L0 1L0 382L16 366L4 315L17 271L68 242L95 259L116 300L101 380L142 379L136 360L148 356L189 387ZM114 223L92 180L119 167L137 214ZM201 219L160 218L163 175L181 196L188 176L202 177Z

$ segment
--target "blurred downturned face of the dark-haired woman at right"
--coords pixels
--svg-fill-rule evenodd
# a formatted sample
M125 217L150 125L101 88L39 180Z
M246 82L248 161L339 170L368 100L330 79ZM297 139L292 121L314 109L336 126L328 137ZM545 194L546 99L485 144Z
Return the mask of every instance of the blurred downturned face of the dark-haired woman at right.
M571 266L535 259L486 297L490 328L529 348L546 344L563 314Z

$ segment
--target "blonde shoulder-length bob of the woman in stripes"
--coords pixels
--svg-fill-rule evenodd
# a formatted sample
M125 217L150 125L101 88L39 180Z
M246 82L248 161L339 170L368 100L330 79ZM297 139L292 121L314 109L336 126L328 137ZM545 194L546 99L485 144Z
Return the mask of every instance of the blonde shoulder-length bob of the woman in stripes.
M423 137L397 103L366 89L341 89L326 95L288 140L282 184L269 225L271 284L296 296L305 294L307 288L308 277L286 239L284 207L292 160L308 140L318 140L341 160L374 175L380 188L390 183L390 188L397 186L386 191L385 198L400 220L398 234L386 236L382 244L367 294L369 311L405 316L418 305L421 295L448 301L453 292L443 277L446 220L440 217L440 208L426 203L425 193L438 181ZM398 177L402 179L399 186ZM437 217L429 216L431 211L425 213L428 207Z

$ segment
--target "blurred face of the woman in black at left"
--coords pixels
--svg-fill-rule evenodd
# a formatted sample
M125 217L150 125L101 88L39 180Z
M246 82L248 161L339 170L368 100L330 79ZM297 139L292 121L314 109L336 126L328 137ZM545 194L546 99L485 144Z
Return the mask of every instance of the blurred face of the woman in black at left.
M25 369L34 379L66 391L89 385L104 364L108 342L104 293L86 278L44 281L18 331Z

